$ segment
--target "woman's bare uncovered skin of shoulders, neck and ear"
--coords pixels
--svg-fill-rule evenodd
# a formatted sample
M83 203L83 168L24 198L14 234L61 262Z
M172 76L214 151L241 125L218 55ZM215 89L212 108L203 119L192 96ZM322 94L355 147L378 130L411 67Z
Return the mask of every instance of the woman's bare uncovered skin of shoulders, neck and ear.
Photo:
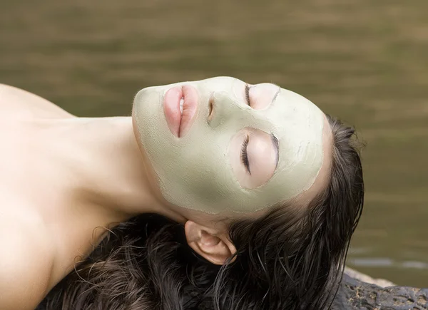
M76 118L0 85L0 141L0 309L34 309L101 241L102 227L145 212L185 223L190 246L210 262L235 251L226 224L163 200L131 118ZM328 170L299 200L325 186Z

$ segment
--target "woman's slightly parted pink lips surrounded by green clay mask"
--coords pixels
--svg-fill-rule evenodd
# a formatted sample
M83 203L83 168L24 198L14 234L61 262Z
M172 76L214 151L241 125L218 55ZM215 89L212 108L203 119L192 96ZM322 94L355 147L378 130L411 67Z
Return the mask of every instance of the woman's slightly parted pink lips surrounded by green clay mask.
M180 100L183 98L183 115ZM163 113L173 135L182 138L193 125L198 110L198 93L193 86L175 86L166 91L163 97Z

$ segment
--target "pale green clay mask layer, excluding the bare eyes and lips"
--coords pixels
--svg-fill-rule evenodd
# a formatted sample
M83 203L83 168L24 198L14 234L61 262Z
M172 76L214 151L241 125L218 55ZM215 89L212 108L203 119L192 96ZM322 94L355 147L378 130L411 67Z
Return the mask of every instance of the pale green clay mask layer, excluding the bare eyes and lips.
M197 93L193 123L182 137L173 135L164 113L165 93L175 86ZM257 87L257 86L255 86ZM133 118L165 200L180 207L218 214L255 212L300 195L315 182L322 166L324 114L306 98L277 88L251 108L245 83L235 78L209 78L144 88L136 95ZM210 117L209 117L210 116ZM277 140L278 162L262 185L248 188L231 165L233 138L255 128Z

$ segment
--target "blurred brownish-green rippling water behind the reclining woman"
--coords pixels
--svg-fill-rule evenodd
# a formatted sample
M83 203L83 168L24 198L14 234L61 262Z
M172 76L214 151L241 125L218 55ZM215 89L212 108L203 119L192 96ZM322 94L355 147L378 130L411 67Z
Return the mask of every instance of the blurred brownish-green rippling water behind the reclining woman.
M0 83L80 116L235 76L302 93L367 141L348 264L428 286L428 1L0 0Z

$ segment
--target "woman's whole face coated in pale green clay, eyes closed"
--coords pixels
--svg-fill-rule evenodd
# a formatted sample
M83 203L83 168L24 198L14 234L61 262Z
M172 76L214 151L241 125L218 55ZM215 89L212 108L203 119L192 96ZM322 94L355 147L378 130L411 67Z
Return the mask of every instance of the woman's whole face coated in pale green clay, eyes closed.
M211 214L295 198L330 162L324 113L271 83L218 77L144 88L133 121L165 200Z

